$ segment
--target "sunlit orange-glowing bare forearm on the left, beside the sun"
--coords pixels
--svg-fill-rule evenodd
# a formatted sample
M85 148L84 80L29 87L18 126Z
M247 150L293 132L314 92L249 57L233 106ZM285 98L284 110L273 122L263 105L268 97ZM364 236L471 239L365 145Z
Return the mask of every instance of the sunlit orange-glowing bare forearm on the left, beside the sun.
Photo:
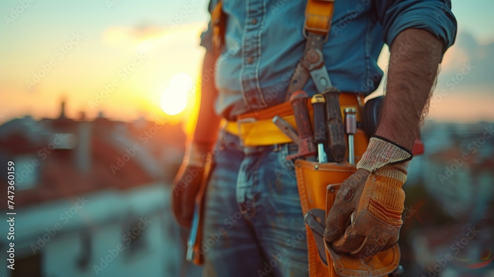
M201 80L201 105L194 132L195 143L212 146L217 138L220 117L214 112L214 101L218 95L214 86L214 55L206 52Z

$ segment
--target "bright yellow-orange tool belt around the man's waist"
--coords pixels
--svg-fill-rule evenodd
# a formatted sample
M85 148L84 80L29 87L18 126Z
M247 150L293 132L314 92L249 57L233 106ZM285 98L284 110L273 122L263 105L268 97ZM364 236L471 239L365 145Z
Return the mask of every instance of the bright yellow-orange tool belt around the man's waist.
M310 101L309 101L310 102ZM364 95L351 92L341 93L339 96L341 114L345 108L353 107L357 109L357 121L362 122L362 108L360 103L364 103ZM313 123L312 105L308 103L307 109L311 115ZM295 116L290 102L285 102L261 111L251 112L240 115L237 121L224 121L223 130L239 137L243 146L265 146L273 144L290 143L292 140L288 138L278 127L272 122L276 115L285 119L295 130Z

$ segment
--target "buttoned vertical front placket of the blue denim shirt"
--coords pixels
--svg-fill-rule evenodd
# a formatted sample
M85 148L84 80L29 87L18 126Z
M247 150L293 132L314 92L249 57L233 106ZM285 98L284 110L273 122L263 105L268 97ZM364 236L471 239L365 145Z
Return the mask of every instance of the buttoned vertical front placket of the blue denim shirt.
M259 84L261 33L265 9L265 0L246 0L247 15L242 36L240 83L247 105L254 110L267 106Z

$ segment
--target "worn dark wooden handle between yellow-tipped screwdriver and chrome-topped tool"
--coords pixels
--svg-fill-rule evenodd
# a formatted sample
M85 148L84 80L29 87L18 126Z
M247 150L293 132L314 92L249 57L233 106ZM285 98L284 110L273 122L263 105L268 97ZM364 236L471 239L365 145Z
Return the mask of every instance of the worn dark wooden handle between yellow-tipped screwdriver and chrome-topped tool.
M339 104L340 94L341 92L333 87L323 92L327 107L329 150L335 162L342 162L345 159L346 152L343 119L341 118Z

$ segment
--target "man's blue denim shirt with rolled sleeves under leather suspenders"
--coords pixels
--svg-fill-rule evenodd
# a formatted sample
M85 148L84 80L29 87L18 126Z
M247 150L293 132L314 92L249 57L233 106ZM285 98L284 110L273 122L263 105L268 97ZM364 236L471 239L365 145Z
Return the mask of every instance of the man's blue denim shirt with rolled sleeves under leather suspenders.
M219 96L215 110L236 115L284 102L291 75L302 57L306 0L223 0L225 47L215 65ZM210 9L216 0L211 0ZM379 85L377 57L386 43L408 28L424 29L444 41L456 36L451 0L336 0L324 60L333 86L365 95ZM212 50L211 28L201 45ZM406 50L408 46L403 47ZM312 80L304 87L312 96Z

